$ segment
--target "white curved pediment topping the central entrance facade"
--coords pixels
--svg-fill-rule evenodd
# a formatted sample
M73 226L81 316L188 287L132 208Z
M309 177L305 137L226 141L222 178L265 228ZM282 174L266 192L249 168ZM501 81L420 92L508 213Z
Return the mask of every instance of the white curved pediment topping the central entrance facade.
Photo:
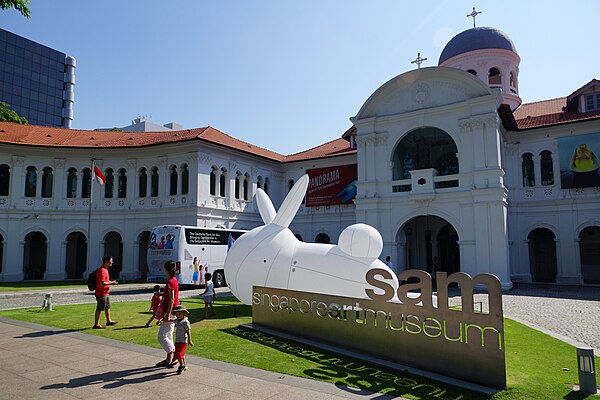
M404 114L491 94L478 78L456 68L429 67L406 72L383 84L356 119Z

